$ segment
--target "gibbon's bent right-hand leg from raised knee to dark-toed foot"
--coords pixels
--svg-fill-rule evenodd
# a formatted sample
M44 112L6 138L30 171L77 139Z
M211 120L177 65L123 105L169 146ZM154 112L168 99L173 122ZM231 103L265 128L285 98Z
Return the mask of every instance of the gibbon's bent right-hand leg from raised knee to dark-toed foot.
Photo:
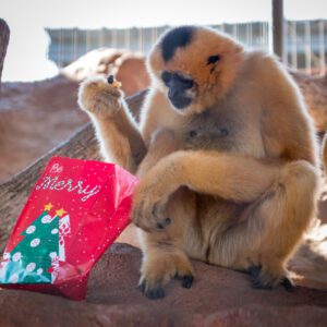
M314 216L317 185L317 174L307 161L283 165L239 222L216 235L209 262L247 269L254 288L282 283L292 290L286 264Z

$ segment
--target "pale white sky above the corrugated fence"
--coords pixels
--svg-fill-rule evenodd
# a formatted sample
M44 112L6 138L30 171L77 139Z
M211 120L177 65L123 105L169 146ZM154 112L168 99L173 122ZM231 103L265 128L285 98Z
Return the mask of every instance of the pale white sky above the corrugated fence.
M290 20L327 19L327 0L284 0L284 13ZM57 73L45 58L45 27L220 24L268 21L270 15L270 0L1 0L0 16L11 27L2 78L29 81Z

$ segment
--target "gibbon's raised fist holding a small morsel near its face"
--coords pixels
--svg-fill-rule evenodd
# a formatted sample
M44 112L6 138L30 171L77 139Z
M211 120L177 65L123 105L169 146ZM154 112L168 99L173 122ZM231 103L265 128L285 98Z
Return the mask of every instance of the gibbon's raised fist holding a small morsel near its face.
M123 93L105 77L85 80L78 90L82 110L100 118L111 117L122 108Z

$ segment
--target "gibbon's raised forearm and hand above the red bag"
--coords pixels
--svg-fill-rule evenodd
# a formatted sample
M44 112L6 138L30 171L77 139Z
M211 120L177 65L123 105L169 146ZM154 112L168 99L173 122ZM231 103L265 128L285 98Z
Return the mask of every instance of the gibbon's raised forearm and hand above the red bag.
M146 147L123 93L104 77L89 78L81 84L78 105L95 125L105 159L135 173Z

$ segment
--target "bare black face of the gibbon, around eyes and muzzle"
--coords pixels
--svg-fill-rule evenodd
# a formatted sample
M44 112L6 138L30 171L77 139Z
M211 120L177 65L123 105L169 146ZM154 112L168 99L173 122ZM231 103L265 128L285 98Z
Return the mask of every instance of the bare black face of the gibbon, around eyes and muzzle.
M177 109L183 109L192 102L191 88L194 82L179 73L164 71L161 78L168 87L168 98Z

